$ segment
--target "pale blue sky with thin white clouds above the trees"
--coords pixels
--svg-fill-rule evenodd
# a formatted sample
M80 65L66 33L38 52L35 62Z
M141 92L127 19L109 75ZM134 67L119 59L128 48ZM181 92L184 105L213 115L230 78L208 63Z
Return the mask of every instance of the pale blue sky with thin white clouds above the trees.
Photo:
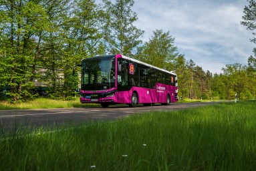
M252 32L241 25L247 0L134 0L138 20L149 41L156 29L169 31L174 45L204 71L222 73L227 64L247 65L253 55Z

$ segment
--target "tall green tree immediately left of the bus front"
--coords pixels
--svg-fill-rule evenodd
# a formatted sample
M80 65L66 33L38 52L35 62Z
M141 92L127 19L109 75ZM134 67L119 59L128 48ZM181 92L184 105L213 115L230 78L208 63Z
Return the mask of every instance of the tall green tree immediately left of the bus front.
M72 76L74 63L104 53L100 32L103 13L100 7L94 3L94 0L76 0L72 9L72 13L63 23L60 37L64 44L62 54L64 98L69 98L74 94L74 90L78 89L78 75Z

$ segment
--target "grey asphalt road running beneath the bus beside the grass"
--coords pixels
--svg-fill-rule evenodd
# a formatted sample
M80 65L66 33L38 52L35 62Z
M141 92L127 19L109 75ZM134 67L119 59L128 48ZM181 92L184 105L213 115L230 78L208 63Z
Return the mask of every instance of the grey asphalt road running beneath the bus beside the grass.
M0 130L15 131L19 129L52 128L62 124L78 124L96 120L116 120L132 114L160 111L182 110L198 106L211 105L210 103L171 104L170 106L110 106L109 108L65 108L43 110L0 110Z

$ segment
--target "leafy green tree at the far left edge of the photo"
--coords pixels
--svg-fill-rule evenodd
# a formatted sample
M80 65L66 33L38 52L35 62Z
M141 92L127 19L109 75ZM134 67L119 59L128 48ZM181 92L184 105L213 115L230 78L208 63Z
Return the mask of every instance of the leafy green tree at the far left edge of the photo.
M7 96L17 102L33 95L37 33L47 27L47 14L33 1L0 1L0 8L1 85L10 89Z

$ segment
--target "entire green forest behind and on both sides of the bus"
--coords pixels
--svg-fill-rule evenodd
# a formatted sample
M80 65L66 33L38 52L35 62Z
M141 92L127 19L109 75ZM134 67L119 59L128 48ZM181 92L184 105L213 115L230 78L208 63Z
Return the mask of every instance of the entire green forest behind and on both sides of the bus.
M248 2L241 24L254 36L256 2ZM86 57L116 53L174 71L182 98L255 98L256 48L248 65L220 66L219 74L204 71L178 52L170 31L156 29L143 42L144 31L134 26L138 17L133 5L133 0L0 0L1 99L23 102L47 91L50 98L69 100L79 82L72 75L74 65ZM250 41L256 43L256 38ZM40 90L45 87L39 82L47 89Z

